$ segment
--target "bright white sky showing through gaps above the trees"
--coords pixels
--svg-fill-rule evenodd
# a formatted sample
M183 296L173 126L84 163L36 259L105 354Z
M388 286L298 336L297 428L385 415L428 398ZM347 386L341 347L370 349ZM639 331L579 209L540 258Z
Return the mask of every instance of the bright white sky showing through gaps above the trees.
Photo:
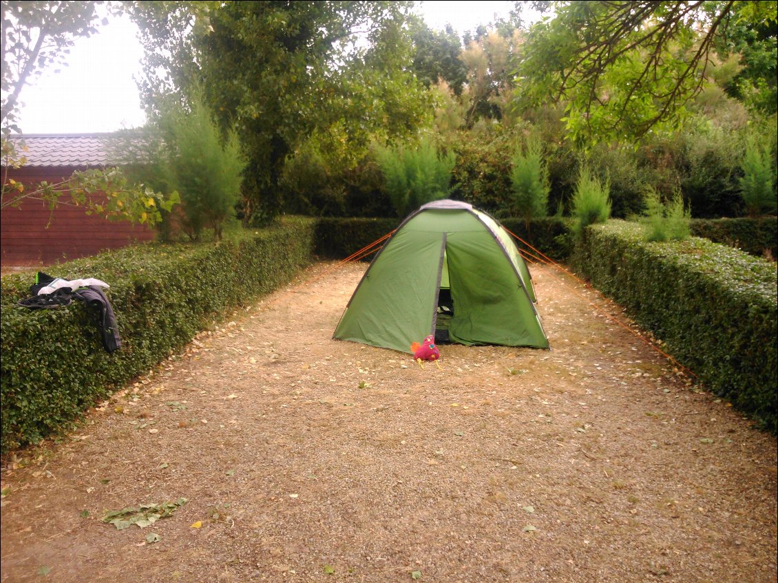
M426 0L418 11L430 28L443 30L450 23L462 34L491 22L495 15L507 16L512 8L513 2L506 0ZM78 134L144 124L133 79L143 56L136 33L135 24L121 18L100 26L93 37L77 40L68 67L59 73L44 72L33 86L22 89L22 131Z

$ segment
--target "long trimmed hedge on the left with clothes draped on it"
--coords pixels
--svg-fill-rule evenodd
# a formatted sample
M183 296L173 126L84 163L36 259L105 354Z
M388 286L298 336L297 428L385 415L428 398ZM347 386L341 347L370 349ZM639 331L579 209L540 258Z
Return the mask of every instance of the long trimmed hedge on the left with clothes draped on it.
M286 219L219 244L150 244L47 268L62 278L102 279L121 350L103 350L82 305L33 311L31 274L2 278L2 452L66 428L97 400L149 371L200 330L286 283L310 262L314 221ZM78 302L73 302L78 304Z

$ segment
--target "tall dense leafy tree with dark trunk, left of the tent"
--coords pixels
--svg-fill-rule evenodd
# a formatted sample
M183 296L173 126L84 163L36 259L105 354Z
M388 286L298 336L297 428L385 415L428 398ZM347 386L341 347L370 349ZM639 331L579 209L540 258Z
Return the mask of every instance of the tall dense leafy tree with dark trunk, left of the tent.
M170 10L181 6L163 4ZM270 218L282 209L279 179L287 157L300 141L331 124L333 115L343 111L338 102L345 100L349 106L353 99L344 88L349 75L342 69L354 55L366 51L365 40L370 43L378 31L402 23L410 2L277 0L220 2L216 8L205 4L187 2L184 7L198 9L198 14L187 20L182 12L173 26L191 26L181 36L187 39L181 46L191 51L187 62L198 65L196 74L216 116L223 127L234 125L244 146L247 213ZM164 11L150 15L147 2L135 5L147 17L165 16ZM172 21L166 22L163 29ZM160 34L170 43L177 38L170 31ZM177 55L166 55L166 44L159 38L147 47L171 61L166 72L175 88L185 93L191 69L180 68Z

